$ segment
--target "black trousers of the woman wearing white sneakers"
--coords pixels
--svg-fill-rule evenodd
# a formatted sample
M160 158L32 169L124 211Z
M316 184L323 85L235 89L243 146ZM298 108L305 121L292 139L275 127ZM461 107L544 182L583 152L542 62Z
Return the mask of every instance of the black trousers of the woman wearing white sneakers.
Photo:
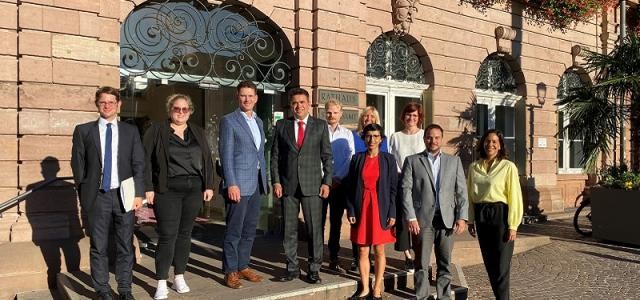
M191 252L191 230L202 206L202 179L199 176L169 178L168 191L156 193L153 211L158 221L156 277L166 280L173 265L174 274L184 274Z

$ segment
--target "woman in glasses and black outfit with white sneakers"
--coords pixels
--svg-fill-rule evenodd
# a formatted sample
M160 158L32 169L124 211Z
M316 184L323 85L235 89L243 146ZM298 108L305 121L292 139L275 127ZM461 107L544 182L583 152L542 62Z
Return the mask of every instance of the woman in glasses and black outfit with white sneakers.
M169 118L153 124L144 135L145 191L153 204L159 235L156 250L158 285L154 299L167 299L169 268L174 267L173 288L190 291L184 272L191 252L191 230L202 200L213 197L213 160L201 127L189 122L191 98L167 98Z

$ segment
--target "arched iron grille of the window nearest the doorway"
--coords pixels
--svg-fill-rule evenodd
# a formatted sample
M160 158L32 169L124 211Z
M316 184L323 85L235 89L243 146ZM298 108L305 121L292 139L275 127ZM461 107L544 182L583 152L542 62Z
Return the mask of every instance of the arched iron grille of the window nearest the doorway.
M367 50L367 76L424 83L424 70L415 50L405 41L385 34Z

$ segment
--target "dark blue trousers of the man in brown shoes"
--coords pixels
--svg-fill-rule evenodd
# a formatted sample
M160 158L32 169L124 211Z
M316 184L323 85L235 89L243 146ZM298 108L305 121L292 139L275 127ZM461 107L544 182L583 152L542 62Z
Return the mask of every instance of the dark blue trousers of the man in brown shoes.
M222 265L225 274L238 272L249 266L251 248L256 237L256 225L260 213L260 185L251 196L232 202L225 196L227 227L222 244Z

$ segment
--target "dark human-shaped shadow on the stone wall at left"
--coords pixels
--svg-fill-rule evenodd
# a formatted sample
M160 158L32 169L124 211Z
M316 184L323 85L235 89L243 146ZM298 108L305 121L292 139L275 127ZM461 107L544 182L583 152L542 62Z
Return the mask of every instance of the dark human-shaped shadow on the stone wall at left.
M60 171L60 163L48 156L40 162L42 181L27 186L31 190L47 180L54 179ZM50 289L56 288L56 275L62 268L62 255L66 270L80 267L78 242L84 237L78 213L75 187L66 181L56 181L33 192L25 200L26 215L31 225L31 240L40 248L47 264L47 281Z

